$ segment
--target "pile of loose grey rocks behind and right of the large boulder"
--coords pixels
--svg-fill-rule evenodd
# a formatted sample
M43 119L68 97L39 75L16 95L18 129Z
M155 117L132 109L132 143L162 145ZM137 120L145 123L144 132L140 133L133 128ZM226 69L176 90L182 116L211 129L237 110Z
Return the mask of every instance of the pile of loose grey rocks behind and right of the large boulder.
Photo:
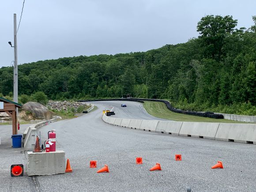
M67 111L68 109L75 109L75 112L77 111L77 108L79 106L85 105L81 102L70 102L70 101L64 101L64 102L54 102L54 101L49 101L47 107L49 109L56 109L57 111L60 111L63 109L64 111Z

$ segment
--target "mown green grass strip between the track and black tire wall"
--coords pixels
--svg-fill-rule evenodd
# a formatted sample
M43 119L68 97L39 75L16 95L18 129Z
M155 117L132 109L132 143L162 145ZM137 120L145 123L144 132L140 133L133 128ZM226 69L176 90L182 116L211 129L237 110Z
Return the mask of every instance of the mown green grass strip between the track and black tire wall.
M192 115L184 115L180 113L173 113L169 109L167 109L166 105L162 102L144 102L144 108L147 113L154 117L168 119L168 120L176 120L176 121L192 121L192 122L215 122L215 123L245 123L235 120L227 120L227 119L212 119L208 117L197 117Z

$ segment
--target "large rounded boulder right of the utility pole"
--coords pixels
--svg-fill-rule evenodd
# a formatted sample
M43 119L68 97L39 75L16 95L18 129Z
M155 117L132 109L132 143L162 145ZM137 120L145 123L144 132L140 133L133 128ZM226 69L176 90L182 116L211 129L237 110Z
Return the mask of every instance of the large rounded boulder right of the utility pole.
M23 105L23 110L29 111L32 113L33 117L37 119L51 119L52 114L49 109L38 102L27 102Z

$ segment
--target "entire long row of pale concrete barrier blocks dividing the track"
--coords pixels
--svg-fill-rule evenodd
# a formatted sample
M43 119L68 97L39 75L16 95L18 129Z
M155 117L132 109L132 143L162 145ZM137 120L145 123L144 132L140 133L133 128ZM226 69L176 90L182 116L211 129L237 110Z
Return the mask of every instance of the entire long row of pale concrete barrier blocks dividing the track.
M204 123L107 117L108 124L177 136L256 144L256 124Z

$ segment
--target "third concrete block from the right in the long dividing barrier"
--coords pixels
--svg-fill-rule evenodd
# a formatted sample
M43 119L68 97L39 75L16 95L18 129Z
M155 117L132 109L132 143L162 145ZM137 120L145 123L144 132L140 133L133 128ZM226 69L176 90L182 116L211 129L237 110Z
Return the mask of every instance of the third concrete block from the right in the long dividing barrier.
M159 120L159 123L157 125L157 128L155 132L158 133L166 133L166 134L172 134L172 135L179 135L179 132L181 130L181 125L183 122L181 121L162 121Z

